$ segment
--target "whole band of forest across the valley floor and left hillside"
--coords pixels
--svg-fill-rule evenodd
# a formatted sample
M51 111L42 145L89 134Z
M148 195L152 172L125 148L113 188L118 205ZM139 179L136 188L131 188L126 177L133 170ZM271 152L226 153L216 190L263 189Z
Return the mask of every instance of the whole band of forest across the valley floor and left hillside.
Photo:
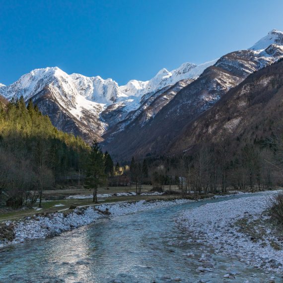
M259 191L282 185L283 137L280 129L252 143L204 143L195 152L159 156L114 166L99 144L86 144L72 134L58 131L30 100L23 97L0 106L0 200L13 208L33 206L45 190L59 188L70 176L79 176L84 188L142 185L167 194ZM122 176L122 177L121 177ZM124 180L124 181L122 181ZM77 182L77 181L76 181ZM169 188L169 189L168 189Z

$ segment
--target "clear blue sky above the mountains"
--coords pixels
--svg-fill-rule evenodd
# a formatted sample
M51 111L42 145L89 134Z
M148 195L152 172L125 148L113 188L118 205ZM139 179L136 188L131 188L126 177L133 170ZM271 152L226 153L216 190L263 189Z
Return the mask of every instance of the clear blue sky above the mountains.
M283 0L0 0L0 82L36 68L147 80L283 30Z

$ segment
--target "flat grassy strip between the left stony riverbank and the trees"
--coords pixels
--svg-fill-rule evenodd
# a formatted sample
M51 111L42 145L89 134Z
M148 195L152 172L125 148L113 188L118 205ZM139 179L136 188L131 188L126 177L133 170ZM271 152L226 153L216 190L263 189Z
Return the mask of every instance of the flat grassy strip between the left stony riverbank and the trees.
M142 193L149 192L152 189L152 186L144 185L142 187ZM168 188L165 188L168 189ZM130 187L109 187L99 188L98 194L115 194L115 193L129 193L135 192L136 188ZM15 220L20 219L25 216L31 216L36 213L43 212L57 212L68 210L71 206L89 206L94 205L92 199L66 199L66 197L71 195L92 195L93 192L90 190L85 190L83 187L78 188L75 186L66 187L66 189L61 190L49 190L44 192L44 199L48 200L42 203L42 209L36 211L35 209L25 209L25 210L16 210L16 211L0 211L0 222L5 220ZM58 198L58 199L57 199ZM175 199L176 196L113 196L103 199L98 199L99 204L103 203L115 203L123 201L140 201L140 200L164 200L164 199ZM56 199L56 200L53 200ZM98 205L99 205L98 204ZM60 205L60 206L59 206ZM34 205L34 207L38 206Z

